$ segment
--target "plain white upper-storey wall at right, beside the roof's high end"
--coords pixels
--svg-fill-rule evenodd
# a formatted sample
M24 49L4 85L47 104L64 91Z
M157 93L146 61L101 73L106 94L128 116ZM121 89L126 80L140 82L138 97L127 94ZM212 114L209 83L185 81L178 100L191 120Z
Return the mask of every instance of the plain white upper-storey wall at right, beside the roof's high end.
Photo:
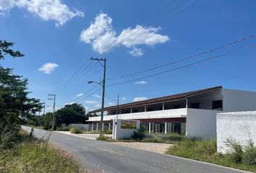
M256 110L256 92L222 89L223 112Z

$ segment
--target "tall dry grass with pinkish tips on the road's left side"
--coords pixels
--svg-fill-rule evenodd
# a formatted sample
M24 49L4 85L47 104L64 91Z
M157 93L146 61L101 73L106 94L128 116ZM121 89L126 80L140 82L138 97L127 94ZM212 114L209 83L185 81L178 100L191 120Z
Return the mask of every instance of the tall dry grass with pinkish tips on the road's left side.
M0 151L0 172L90 172L80 169L72 155L35 139L24 131L20 141L9 150Z

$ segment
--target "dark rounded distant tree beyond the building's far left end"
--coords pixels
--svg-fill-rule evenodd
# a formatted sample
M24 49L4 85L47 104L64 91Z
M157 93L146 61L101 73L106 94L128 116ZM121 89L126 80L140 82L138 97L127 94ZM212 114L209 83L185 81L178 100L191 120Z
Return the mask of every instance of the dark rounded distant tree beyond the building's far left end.
M60 126L62 123L69 125L71 123L85 123L88 116L85 115L85 107L80 104L65 105L65 107L56 111L56 123Z

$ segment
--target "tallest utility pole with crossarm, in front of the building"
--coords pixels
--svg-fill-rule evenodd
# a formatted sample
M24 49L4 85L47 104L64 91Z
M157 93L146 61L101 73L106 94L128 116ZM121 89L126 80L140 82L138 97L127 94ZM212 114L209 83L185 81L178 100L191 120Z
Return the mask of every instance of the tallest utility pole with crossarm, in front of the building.
M104 61L104 65L101 63L101 66L104 68L103 73L103 81L102 81L102 102L101 102L101 125L100 125L100 136L102 136L103 132L103 112L104 112L104 97L105 97L105 81L106 81L106 58L90 58L91 60L98 61L101 63L101 61Z

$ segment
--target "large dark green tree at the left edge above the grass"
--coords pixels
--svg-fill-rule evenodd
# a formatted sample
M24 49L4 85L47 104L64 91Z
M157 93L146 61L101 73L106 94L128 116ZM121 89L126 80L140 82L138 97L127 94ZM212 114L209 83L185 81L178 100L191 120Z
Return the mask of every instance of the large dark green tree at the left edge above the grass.
M9 48L13 44L0 40L0 61L7 55L23 56ZM27 79L14 75L11 68L0 66L0 144L5 143L0 145L0 149L12 146L22 122L42 108L40 100L29 98L29 93Z

